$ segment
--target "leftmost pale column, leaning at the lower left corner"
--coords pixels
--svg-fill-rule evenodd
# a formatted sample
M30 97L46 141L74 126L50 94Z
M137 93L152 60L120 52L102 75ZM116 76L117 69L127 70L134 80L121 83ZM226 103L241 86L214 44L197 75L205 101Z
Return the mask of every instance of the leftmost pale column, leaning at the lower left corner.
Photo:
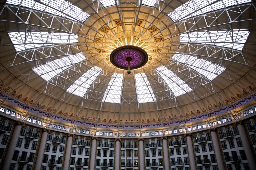
M6 152L5 155L5 159L4 159L4 163L2 166L2 169L6 169L8 170L10 165L11 165L11 161L12 161L12 157L16 148L16 144L18 142L18 138L20 135L20 130L21 130L21 126L25 125L23 122L18 122L18 125L15 126L14 131L12 133L12 138L8 147L8 150Z

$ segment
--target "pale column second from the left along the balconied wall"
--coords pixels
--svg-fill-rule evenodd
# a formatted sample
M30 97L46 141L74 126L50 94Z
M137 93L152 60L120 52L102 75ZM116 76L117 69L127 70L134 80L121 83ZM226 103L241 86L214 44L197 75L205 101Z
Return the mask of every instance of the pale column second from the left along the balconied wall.
M47 131L45 131L45 130L47 130ZM48 132L48 129L44 129L44 132L42 134L42 138L41 138L41 141L40 141L40 146L39 146L39 149L38 149L37 158L36 158L35 170L41 170L43 157L44 157L44 150L45 150L46 140L47 140L47 136L48 136L47 132Z

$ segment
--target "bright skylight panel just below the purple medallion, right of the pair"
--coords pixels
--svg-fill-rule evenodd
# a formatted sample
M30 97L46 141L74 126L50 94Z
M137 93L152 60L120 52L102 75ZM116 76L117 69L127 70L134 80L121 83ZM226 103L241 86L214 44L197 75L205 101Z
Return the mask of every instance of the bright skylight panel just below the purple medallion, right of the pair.
M155 95L145 73L135 74L135 83L139 103L156 101Z

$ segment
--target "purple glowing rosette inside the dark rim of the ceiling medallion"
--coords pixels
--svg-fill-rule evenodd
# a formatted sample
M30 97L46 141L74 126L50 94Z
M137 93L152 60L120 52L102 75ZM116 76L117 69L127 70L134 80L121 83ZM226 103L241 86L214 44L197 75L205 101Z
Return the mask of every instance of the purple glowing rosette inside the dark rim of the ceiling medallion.
M127 66L128 67L128 61L126 61L127 57L131 57L132 60L130 62L130 66L135 66L138 65L141 60L142 57L141 55L136 52L136 51L131 51L131 50L127 50L127 51L122 51L120 52L117 56L116 56L116 61L123 66Z

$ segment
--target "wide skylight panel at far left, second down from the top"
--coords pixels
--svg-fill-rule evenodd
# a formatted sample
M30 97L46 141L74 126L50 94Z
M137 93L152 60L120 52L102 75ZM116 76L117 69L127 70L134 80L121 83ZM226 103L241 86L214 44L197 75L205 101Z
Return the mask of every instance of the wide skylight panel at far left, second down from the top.
M9 37L14 44L16 51L37 48L44 45L52 45L58 43L77 43L78 36L68 33L54 33L44 31L14 31L9 32ZM23 43L26 43L23 45ZM43 44L46 43L46 44ZM18 45L15 45L18 44Z

